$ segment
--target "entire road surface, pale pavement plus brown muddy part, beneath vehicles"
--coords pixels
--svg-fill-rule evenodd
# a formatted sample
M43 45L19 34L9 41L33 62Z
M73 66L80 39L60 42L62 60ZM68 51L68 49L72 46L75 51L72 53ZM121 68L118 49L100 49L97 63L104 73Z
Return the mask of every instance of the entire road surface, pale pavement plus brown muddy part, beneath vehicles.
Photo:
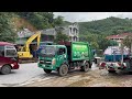
M132 87L132 74L109 74L94 64L88 73L74 70L59 77L55 72L45 74L36 63L21 64L20 69L0 75L0 87Z

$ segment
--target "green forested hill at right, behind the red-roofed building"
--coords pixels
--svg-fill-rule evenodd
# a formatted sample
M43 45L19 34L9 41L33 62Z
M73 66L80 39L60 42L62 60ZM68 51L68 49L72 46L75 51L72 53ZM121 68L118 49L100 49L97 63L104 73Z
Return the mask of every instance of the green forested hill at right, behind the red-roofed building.
M80 41L90 42L95 48L105 50L110 44L106 36L132 32L131 19L107 18L91 22L79 22Z

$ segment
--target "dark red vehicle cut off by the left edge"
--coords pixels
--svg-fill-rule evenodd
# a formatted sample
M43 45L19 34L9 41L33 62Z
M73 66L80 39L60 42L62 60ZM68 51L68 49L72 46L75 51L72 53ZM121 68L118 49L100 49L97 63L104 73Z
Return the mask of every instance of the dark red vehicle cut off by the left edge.
M7 75L11 69L19 69L16 48L14 44L0 42L0 73Z

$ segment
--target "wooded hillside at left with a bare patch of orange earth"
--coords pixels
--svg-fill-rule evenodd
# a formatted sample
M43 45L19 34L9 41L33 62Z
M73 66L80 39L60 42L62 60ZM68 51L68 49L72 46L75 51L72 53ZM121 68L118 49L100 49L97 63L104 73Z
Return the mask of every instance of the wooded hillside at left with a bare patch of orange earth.
M14 42L24 28L36 31L63 24L63 16L54 19L53 12L0 12L0 41Z

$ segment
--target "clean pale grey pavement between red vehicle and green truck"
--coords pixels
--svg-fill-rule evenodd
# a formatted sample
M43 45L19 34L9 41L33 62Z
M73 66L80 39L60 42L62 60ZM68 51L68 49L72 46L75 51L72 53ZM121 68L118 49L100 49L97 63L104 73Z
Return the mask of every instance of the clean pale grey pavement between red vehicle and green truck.
M44 74L36 63L20 64L20 69L12 70L9 75L0 75L0 85L15 85Z

